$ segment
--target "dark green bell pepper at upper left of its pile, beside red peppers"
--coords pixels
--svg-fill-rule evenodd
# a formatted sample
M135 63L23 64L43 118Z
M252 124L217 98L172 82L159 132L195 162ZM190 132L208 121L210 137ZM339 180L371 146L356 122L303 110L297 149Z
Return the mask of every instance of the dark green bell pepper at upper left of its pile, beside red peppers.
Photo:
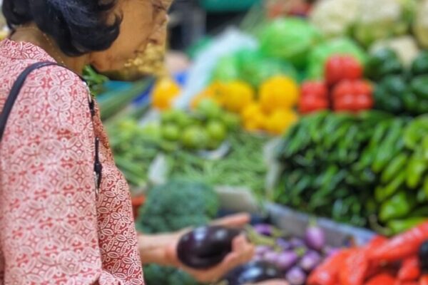
M365 74L373 81L379 81L391 74L404 73L404 66L397 53L391 48L382 48L369 56L365 66Z

